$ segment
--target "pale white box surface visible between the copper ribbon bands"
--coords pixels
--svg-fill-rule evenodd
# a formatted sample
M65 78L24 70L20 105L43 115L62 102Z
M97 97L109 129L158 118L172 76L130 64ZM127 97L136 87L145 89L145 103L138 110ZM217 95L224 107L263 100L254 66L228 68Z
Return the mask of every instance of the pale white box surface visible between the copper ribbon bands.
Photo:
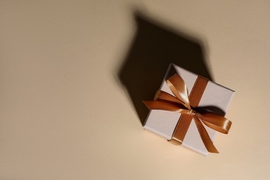
M160 89L173 95L165 80L170 78L169 75L172 75L174 72L178 73L181 78L183 78L186 86L188 87L188 92L190 93L198 75L175 64L170 64ZM225 114L234 93L235 91L209 80L198 107L215 107L215 109L219 109L219 112L221 110ZM150 110L147 119L145 120L144 128L166 138L167 140L170 140L180 116L181 114L172 111ZM206 125L204 125L204 127L206 128L211 140L214 141L216 135L215 130L210 129ZM199 135L194 120L190 123L190 127L183 139L182 145L204 156L209 154L204 143L201 141L201 136Z

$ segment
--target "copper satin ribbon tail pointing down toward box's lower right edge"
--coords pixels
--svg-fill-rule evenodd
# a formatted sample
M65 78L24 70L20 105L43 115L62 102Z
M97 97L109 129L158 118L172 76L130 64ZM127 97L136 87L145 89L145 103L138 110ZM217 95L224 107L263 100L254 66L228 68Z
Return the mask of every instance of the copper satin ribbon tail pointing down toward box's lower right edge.
M203 141L208 152L219 153L201 121L197 117L194 117L194 120L199 131L199 135L201 136L201 140Z

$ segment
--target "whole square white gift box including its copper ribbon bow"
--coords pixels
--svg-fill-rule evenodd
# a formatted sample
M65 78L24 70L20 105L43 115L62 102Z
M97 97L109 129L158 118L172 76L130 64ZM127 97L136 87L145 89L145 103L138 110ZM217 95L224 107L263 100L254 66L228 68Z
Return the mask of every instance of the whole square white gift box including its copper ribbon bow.
M224 118L235 91L170 64L159 93L145 101L150 112L144 128L204 156L217 152L217 132L228 133Z

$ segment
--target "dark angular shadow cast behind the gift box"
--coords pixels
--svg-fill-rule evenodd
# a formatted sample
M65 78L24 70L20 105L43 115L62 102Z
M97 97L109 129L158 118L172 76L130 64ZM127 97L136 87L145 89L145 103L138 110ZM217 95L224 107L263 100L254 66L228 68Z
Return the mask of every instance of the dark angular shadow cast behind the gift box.
M120 67L118 78L127 89L143 124L149 110L142 100L154 98L170 63L210 80L212 78L199 40L170 30L139 12L134 13L134 17L136 35Z

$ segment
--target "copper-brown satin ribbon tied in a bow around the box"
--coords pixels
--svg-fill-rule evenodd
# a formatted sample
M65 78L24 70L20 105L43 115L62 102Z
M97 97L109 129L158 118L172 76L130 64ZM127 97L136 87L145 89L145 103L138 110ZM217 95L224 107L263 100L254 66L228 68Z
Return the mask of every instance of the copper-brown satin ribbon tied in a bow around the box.
M224 116L218 116L213 113L200 114L195 111L195 107L199 105L208 80L198 77L190 97L188 96L188 88L185 82L177 73L172 75L166 82L174 96L165 91L158 91L154 100L143 102L148 109L174 111L181 114L170 141L174 144L181 144L186 136L186 132L188 132L191 121L194 120L206 150L212 153L219 153L204 125L217 132L228 134L228 130L232 124L231 121L224 118ZM195 87L197 88L195 89Z

